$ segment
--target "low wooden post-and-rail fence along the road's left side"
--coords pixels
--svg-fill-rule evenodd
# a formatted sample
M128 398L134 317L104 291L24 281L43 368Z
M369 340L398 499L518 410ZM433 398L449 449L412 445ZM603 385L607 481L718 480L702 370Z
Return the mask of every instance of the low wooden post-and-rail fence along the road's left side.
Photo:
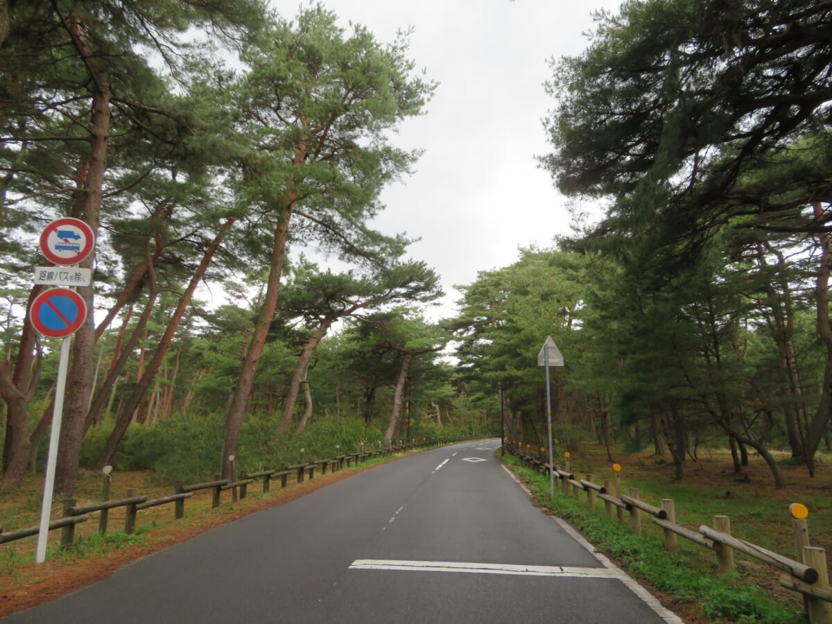
M316 470L321 475L324 475L327 473L327 470L334 472L336 470L342 470L345 467L357 466L369 458L393 455L394 453L401 453L413 448L443 446L445 444L461 442L464 439L467 438L438 438L430 441L424 440L418 443L392 444L387 448L379 448L372 451L362 450L359 453L349 453L329 459L317 459L310 462L297 463L280 469L266 468L256 473L241 473L240 478L234 481L220 478L220 475L215 475L213 481L206 483L194 483L191 485L176 483L174 485L174 493L170 496L152 498L150 500L146 496L138 495L136 490L133 489L127 490L126 498L109 498L111 475L106 474L104 476L104 488L102 489L102 501L77 505L74 498L65 499L63 501L63 517L52 520L49 523L49 530L53 531L60 528L62 530L61 547L67 548L72 546L72 543L75 541L76 524L86 522L90 519L92 513L98 512L98 532L104 535L107 530L110 509L123 507L126 512L124 532L129 535L136 531L136 518L141 509L174 503L174 518L184 518L186 499L191 498L195 492L201 490L211 491L211 508L217 508L220 506L223 492L230 491L232 500L237 500L238 496L239 498L246 498L248 495L248 486L255 483L257 479L262 480L263 492L266 493L270 491L271 482L278 479L280 479L280 488L285 488L290 484L290 477L295 479L295 483L304 483L307 478L314 478ZM39 526L26 527L9 532L2 532L2 528L0 528L0 544L13 542L23 537L31 537L32 535L37 535L39 531Z

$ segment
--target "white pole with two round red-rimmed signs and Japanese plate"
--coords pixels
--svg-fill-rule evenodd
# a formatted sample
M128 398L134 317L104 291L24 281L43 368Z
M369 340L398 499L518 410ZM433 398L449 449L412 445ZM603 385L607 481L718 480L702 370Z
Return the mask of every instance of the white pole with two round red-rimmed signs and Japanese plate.
M41 232L41 253L47 260L70 270L54 270L52 267L36 267L35 283L55 286L90 285L92 271L75 267L87 258L95 247L92 228L82 220L65 217L47 225ZM61 436L63 395L67 389L69 368L69 346L74 334L87 319L87 305L81 295L71 288L53 288L37 295L29 308L29 321L40 334L47 338L62 338L61 357L58 361L55 384L55 407L52 412L52 433L49 436L47 474L43 483L41 524L37 533L37 556L42 563L47 557L49 517L52 513L52 494L55 489L55 468L57 466L57 445Z

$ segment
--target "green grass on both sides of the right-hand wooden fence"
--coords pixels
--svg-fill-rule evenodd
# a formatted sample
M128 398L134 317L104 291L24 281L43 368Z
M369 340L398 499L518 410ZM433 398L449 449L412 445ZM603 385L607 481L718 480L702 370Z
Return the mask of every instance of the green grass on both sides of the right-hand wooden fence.
M602 483L604 477L612 478L612 462L606 452L591 445L582 451L570 468L576 478L583 478L582 473L593 473L596 483ZM656 592L665 594L677 612L700 618L698 621L706 618L711 622L805 622L800 595L779 586L780 572L775 568L735 553L736 572L717 577L714 552L683 537L678 538L677 554L666 552L661 529L651 527L646 516L642 517L642 536L638 537L629 522L609 520L602 501L592 512L584 493L577 502L572 494L562 493L559 481L552 500L547 474L525 468L518 458L506 457L527 481L538 504L571 522L600 552L620 562L632 576ZM656 507L661 506L663 498L673 499L676 521L694 530L700 525L711 526L716 515L728 515L735 537L792 558L796 558L795 537L788 506L790 502L805 503L811 510L811 542L829 550L832 497L825 492L830 475L812 481L801 477L799 468L790 469L792 487L773 491L765 483L765 468L749 467L737 478L732 471L725 470L724 464L730 464L730 457L710 459L711 463L689 469L691 478L687 482L677 483L672 480L671 467L646 456L622 456L622 493L636 488L638 498ZM625 517L629 518L629 514Z

